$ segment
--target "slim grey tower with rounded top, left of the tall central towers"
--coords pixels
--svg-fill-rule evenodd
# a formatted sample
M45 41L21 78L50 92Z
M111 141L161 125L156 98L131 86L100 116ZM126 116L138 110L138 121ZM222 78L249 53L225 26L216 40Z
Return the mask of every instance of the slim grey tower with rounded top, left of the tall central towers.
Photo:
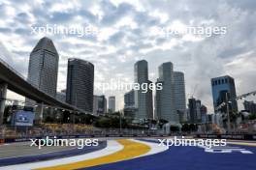
M145 60L138 61L134 66L135 83L143 84L151 83L148 80L147 62ZM135 90L135 107L138 108L135 117L137 119L152 119L153 105L152 105L152 91L147 88L146 92L140 88Z

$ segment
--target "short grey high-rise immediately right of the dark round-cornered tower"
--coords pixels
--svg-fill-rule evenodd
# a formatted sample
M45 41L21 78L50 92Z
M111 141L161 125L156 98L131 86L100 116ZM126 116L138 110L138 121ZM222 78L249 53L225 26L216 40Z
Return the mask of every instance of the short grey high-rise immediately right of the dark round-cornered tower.
M93 96L93 114L104 115L107 113L107 99L104 95Z

